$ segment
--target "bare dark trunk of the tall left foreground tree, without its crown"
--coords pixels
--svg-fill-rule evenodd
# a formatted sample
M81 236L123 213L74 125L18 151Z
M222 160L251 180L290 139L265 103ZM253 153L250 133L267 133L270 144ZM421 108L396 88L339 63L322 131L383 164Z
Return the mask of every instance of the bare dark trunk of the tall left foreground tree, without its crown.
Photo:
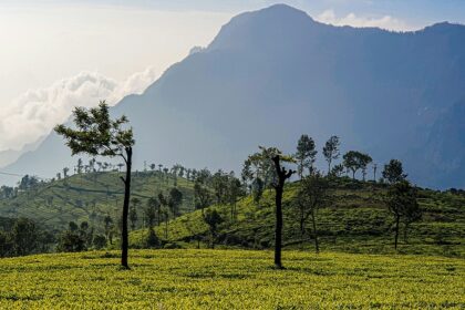
M126 147L126 178L124 179L124 203L123 203L123 229L122 229L122 242L121 242L121 266L130 269L127 264L127 251L130 247L128 234L127 234L127 215L130 213L130 198L131 198L131 168L133 159L133 148Z

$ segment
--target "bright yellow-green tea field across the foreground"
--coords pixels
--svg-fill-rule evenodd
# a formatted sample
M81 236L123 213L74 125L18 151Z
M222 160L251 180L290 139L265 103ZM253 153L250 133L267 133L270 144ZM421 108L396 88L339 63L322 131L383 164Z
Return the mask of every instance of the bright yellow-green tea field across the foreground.
M132 250L0 260L0 309L465 308L465 261L422 256Z

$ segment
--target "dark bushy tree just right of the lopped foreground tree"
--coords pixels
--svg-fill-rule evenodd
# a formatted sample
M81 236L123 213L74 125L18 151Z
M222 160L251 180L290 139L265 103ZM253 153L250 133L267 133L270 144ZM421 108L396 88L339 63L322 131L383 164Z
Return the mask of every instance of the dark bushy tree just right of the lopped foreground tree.
M296 206L299 214L300 237L303 241L306 234L306 221L310 218L313 230L316 252L320 251L317 229L317 210L328 206L330 203L330 186L326 178L323 178L320 174L316 174L302 179L296 198Z

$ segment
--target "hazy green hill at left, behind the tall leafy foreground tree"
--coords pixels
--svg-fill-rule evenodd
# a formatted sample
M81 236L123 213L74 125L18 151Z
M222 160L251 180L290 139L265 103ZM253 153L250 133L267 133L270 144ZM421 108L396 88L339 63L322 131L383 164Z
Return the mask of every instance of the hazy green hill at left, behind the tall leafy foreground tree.
M84 220L100 227L106 215L114 219L121 216L124 197L121 176L116 172L89 173L38 184L14 198L0 199L0 216L31 218L49 229L63 229L70 221ZM168 192L175 183L184 196L180 211L192 210L193 184L159 172L134 173L132 198L140 198L141 206L145 206L149 197Z

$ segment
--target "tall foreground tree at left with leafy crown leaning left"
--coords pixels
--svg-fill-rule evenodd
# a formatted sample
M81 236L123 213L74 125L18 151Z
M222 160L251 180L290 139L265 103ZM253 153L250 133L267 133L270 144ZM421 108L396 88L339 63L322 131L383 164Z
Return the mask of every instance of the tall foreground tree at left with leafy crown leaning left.
M86 153L91 156L118 156L126 164L126 176L121 177L124 183L121 265L128 269L127 216L131 198L132 156L135 143L133 131L132 128L123 128L123 125L127 123L125 116L115 121L110 118L108 105L105 102L101 102L97 107L89 111L76 107L73 111L73 116L76 130L64 125L55 127L55 132L66 140L66 145L71 148L73 155Z

